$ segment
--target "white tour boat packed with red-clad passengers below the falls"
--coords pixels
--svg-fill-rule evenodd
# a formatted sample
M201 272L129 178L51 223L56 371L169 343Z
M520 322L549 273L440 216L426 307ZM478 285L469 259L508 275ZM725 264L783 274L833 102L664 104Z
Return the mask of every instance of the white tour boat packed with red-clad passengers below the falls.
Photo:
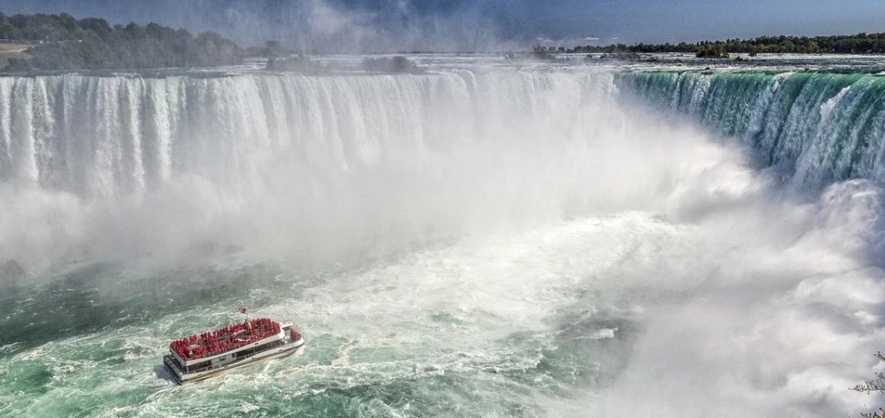
M215 331L191 335L169 344L165 368L178 384L203 380L252 361L295 353L304 338L291 323L269 318L247 319Z

